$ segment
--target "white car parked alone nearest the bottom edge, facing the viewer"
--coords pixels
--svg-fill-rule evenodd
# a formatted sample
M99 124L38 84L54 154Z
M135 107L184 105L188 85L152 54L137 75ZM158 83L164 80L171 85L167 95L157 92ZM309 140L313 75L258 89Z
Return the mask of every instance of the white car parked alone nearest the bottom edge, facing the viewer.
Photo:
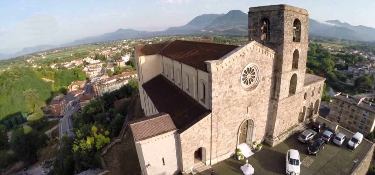
M300 174L300 153L297 150L288 150L287 156L285 156L285 166L287 175Z

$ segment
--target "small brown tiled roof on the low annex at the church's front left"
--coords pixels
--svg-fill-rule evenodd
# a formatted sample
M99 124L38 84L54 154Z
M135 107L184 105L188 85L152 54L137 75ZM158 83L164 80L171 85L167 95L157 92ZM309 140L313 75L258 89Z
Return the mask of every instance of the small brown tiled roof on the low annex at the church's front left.
M132 129L135 141L176 130L171 117L166 113L144 117L128 122L128 124L130 129Z

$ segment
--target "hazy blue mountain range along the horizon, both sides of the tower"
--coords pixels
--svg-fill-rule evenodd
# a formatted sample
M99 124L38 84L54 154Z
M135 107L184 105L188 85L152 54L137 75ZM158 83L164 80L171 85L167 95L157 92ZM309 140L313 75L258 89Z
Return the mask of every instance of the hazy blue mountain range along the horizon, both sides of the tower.
M272 23L272 21L271 21ZM111 33L100 36L86 37L70 43L61 45L40 45L26 47L14 54L0 53L0 59L7 59L42 50L53 49L64 46L74 46L77 44L96 43L111 40L133 39L140 37L167 36L175 34L248 34L248 14L241 10L231 10L226 14L204 14L195 17L186 25L179 27L169 27L164 31L138 31L133 29L118 29ZM353 26L339 20L318 22L310 19L309 34L311 36L334 37L349 40L366 42L375 41L375 28L363 25Z

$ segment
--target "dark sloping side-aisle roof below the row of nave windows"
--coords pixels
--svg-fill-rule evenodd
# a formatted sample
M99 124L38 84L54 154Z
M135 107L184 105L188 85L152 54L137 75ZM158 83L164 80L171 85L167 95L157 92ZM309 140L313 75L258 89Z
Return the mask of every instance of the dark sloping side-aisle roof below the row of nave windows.
M157 111L169 114L181 132L210 113L160 74L142 86Z

